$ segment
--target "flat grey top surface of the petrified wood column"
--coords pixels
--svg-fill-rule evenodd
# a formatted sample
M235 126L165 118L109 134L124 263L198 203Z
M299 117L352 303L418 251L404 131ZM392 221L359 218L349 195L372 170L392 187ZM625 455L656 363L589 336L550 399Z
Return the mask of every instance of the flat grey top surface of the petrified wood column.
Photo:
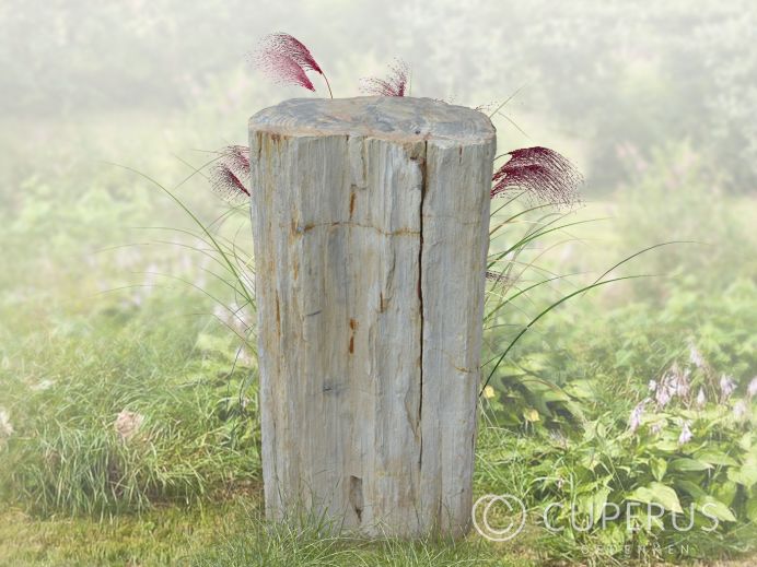
M408 96L292 98L249 119L252 131L289 135L364 135L397 141L449 140L480 143L494 137L485 114Z

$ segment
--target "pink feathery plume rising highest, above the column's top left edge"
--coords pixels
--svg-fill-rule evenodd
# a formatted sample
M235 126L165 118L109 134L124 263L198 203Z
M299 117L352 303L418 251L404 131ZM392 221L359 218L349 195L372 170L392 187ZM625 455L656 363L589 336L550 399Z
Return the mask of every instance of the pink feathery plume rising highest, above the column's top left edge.
M315 86L307 76L307 71L315 71L326 81L329 93L331 87L313 54L305 45L289 34L270 34L263 38L253 61L266 74L281 84L296 84L315 92Z

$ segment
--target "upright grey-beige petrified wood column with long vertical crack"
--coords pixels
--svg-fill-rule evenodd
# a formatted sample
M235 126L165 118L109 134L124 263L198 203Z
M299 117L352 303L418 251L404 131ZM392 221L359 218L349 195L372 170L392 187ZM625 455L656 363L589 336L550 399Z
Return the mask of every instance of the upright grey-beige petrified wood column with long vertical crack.
M468 528L494 128L429 98L249 121L266 510Z

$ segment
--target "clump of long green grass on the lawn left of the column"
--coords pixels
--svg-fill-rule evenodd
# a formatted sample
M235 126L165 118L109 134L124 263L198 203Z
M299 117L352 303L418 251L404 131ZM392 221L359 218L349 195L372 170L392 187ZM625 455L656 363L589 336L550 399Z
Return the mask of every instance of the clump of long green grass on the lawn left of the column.
M228 376L233 346L203 352L199 321L179 335L141 318L96 324L96 334L40 333L12 361L2 403L16 417L0 497L43 515L112 515L252 486L257 426L228 392L248 371ZM254 405L255 390L246 395Z

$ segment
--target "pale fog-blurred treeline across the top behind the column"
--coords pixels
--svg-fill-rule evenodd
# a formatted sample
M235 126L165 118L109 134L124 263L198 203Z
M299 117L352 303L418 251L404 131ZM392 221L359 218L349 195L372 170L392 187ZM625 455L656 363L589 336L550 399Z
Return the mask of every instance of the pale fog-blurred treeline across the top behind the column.
M577 146L595 194L679 142L706 156L713 184L742 193L757 187L749 0L3 1L0 116L18 125L182 113L198 101L223 105L212 92L238 87L240 96L258 95L240 105L244 125L290 94L258 85L245 61L273 31L312 48L337 95L357 94L358 79L383 73L393 57L410 62L414 95L476 106L523 87L505 107L529 134L519 144L559 132ZM550 135L534 135L536 120Z

